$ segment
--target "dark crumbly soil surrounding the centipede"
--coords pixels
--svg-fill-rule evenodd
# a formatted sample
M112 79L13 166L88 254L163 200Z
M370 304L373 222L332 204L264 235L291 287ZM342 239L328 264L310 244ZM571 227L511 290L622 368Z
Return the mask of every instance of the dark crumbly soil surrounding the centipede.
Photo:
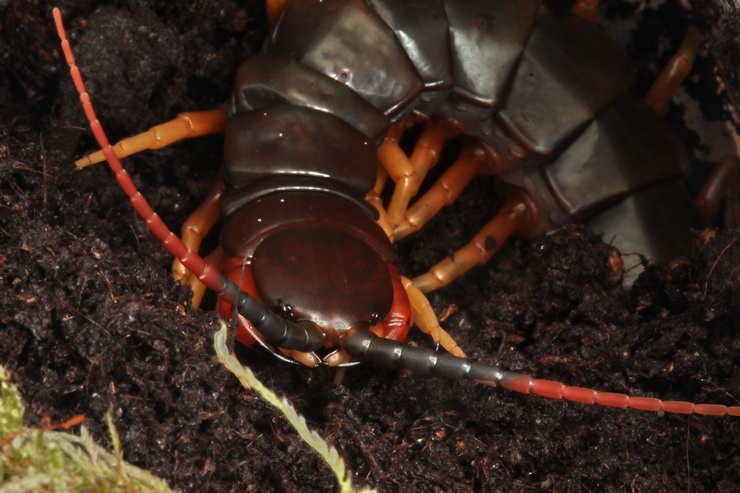
M58 3L112 140L217 106L266 32L259 2ZM619 10L624 4L609 2L607 14L634 14ZM110 410L125 457L183 491L332 491L328 468L285 419L218 365L216 315L188 306L171 258L110 171L73 169L95 145L52 6L0 2L0 364L21 387L27 424L84 414L109 444ZM643 19L654 22L648 12ZM641 43L649 32L640 31ZM207 194L220 145L198 139L125 165L175 227ZM476 183L402 242L402 270L421 272L485 222L495 207L490 186ZM568 227L512 241L430 299L474 358L601 390L738 405L739 236L722 227L695 258L648 269L628 293L609 267L611 247ZM382 491L740 485L737 418L578 405L370 366L333 386L326 369L248 350L241 357L338 448L356 483Z

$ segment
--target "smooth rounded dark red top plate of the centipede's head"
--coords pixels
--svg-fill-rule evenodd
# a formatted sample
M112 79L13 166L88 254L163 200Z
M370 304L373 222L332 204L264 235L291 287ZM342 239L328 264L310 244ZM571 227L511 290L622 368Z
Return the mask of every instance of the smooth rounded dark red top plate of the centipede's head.
M316 323L329 340L357 323L374 324L393 301L383 259L336 228L303 226L270 235L254 252L252 272L266 306Z

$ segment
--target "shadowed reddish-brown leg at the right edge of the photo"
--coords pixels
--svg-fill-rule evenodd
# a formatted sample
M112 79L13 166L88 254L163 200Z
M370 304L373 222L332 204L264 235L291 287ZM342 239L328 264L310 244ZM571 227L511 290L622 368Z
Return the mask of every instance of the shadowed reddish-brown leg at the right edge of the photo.
M696 205L706 219L717 215L719 203L728 196L728 216L740 218L740 159L735 156L724 158L712 170L696 198Z

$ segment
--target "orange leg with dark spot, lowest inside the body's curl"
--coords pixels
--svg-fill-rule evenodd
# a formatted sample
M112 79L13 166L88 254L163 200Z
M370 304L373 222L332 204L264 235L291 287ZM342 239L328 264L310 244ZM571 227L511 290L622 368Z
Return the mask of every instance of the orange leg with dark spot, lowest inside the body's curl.
M488 262L509 236L527 226L532 216L530 211L525 197L513 195L470 243L416 277L414 285L428 293L447 286L472 267Z

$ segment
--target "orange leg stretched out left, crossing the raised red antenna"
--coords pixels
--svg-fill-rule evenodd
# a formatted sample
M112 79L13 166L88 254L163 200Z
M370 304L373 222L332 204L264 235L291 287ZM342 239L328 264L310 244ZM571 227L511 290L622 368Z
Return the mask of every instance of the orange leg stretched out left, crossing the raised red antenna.
M166 147L180 140L223 133L225 123L226 104L214 110L180 113L173 120L118 142L113 146L113 151L119 158L124 158L145 149ZM75 165L84 168L103 161L105 161L103 151L96 151L75 161Z

